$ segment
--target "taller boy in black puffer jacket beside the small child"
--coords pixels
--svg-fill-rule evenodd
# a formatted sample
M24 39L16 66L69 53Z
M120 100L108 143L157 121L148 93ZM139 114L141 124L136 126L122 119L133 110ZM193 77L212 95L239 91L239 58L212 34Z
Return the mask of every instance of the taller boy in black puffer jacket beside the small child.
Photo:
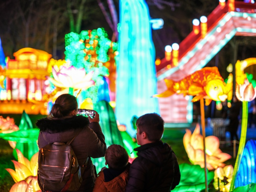
M130 167L126 192L170 192L180 182L179 164L171 146L161 141L164 120L156 113L136 122L138 157Z

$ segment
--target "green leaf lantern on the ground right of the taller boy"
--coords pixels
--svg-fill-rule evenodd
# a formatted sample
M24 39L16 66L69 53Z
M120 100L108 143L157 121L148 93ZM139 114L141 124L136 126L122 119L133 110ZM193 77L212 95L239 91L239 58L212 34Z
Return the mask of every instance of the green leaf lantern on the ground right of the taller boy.
M172 190L172 192L200 192L205 189L204 168L199 165L189 165L187 163L180 164L180 183ZM208 172L208 184L213 180L214 172Z

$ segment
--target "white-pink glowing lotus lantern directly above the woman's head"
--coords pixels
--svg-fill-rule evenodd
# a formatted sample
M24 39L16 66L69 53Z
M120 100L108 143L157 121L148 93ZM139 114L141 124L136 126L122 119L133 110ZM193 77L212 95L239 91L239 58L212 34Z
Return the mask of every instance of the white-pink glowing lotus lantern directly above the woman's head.
M52 74L53 78L49 77L49 80L53 85L69 89L71 95L73 95L74 89L88 89L94 85L94 81L92 81L93 71L86 74L84 68L78 70L74 66L62 66L59 71L56 71L53 67Z

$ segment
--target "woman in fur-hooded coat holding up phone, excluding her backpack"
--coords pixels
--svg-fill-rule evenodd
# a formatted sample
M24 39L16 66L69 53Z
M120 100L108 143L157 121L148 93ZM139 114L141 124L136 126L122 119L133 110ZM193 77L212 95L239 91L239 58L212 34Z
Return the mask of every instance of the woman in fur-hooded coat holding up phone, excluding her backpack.
M89 158L78 192L91 192L97 174L91 157L104 157L106 152L105 137L99 125L99 114L95 111L94 118L77 116L77 108L76 97L70 94L60 95L52 106L49 115L36 122L36 126L40 130L38 146L42 148L48 143L66 143L80 131L70 145L80 166L84 164L87 157Z

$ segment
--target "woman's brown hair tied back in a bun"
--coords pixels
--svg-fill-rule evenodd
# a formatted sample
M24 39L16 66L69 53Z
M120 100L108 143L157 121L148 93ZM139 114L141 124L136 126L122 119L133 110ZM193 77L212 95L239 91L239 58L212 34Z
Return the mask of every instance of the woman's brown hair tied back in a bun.
M60 95L52 106L48 118L61 118L67 116L71 111L77 109L77 99L73 95Z

